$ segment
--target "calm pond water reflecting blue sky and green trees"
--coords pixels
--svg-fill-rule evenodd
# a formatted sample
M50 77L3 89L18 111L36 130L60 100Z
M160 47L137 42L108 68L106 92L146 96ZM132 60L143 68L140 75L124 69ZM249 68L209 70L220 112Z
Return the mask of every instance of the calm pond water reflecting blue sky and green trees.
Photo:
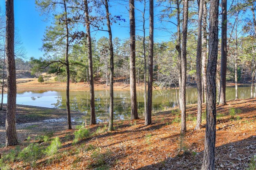
M4 94L6 103L7 94ZM235 98L235 88L226 89L226 99ZM250 87L238 87L238 98L250 98ZM137 91L138 113L144 114L144 92ZM197 102L197 89L186 90L186 104ZM66 109L66 91L19 91L17 104L40 107ZM163 111L177 106L175 89L153 90L152 111ZM90 119L90 91L70 91L70 107L73 111L84 113L85 118ZM95 91L95 108L97 122L108 121L109 91ZM130 91L114 90L114 120L130 119Z

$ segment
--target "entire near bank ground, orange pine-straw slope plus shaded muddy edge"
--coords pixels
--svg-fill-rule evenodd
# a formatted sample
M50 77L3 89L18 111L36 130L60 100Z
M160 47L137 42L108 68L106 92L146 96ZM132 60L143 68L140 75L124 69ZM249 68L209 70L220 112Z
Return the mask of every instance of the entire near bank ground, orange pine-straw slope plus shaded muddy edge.
M228 101L227 105L217 106L216 170L245 170L248 166L255 164L253 162L253 157L256 156L255 106L256 99ZM116 121L114 122L115 130L112 132L107 131L107 123L79 126L72 130L64 130L66 128L64 122L54 125L55 123L50 124L46 121L45 125L24 126L34 119L23 122L23 119L20 119L22 118L20 114L30 111L31 108L34 107L18 107L20 111L17 112L17 119L20 121L17 121L17 133L20 146L0 148L2 154L2 164L0 165L2 167L4 167L4 162L5 166L12 169L47 170L194 170L201 167L206 123L205 105L203 105L202 129L197 131L194 130L197 107L196 105L187 106L187 132L184 134L180 134L180 113L177 108L155 113L150 126L144 125L144 119ZM58 109L44 108L43 112L49 116L44 120L59 118L59 114L62 115L62 118L66 115L64 110L59 111ZM37 111L31 112L30 115L34 114L37 114ZM74 117L73 114L72 117ZM77 117L80 117L80 114ZM34 123L42 120L34 121ZM76 122L72 123L75 127ZM44 126L41 127L41 125ZM45 130L46 127L49 130ZM0 129L2 139L4 138L4 127ZM20 133L26 135L21 137ZM81 134L82 137L80 136L80 140L75 141L74 138L78 134ZM49 146L54 144L54 142L51 144L51 140L44 139L55 137L58 137L61 142L58 150L52 152L53 155L42 152L41 150L49 151ZM21 159L18 156L20 155L18 152L23 153L28 145L35 146L33 153L38 152L36 159L32 159L35 156L29 157L31 154L26 154L26 158L30 158L30 160ZM19 149L17 149L18 147ZM38 147L40 149L35 149Z

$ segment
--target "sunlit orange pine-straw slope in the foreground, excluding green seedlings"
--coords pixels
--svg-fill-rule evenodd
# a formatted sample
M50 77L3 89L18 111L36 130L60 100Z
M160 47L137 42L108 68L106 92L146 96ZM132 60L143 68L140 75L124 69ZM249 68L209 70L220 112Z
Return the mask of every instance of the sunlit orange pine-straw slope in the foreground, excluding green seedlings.
M256 154L255 106L256 99L217 106L216 169L248 167ZM232 110L235 114L230 116ZM155 114L150 126L145 126L143 119L115 122L113 132L106 132L104 124L88 126L92 135L77 144L72 144L75 130L57 132L54 136L61 138L61 156L53 164L39 160L36 169L200 169L206 121L203 114L202 129L194 131L196 111L196 105L188 106L188 130L183 135L177 109ZM9 149L1 148L0 152ZM14 169L17 166L30 169L22 162L12 164Z

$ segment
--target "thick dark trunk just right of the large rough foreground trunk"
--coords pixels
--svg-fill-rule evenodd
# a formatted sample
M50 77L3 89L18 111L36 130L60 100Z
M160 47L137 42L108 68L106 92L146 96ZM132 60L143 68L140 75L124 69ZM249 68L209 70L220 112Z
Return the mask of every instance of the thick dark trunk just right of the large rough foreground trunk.
M222 0L221 26L221 66L220 66L220 104L226 105L226 72L227 72L227 0Z

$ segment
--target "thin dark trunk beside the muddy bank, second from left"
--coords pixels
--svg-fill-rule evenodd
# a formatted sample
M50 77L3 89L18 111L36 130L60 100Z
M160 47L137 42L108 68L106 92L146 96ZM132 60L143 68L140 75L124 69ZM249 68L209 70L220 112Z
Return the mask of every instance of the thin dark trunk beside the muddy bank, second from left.
M68 32L68 17L67 17L67 8L66 8L66 0L64 0L64 9L65 9L65 26L66 26L66 53L65 53L65 61L66 61L66 71L67 71L67 88L66 88L66 108L67 108L67 120L68 120L68 129L72 129L71 127L71 115L70 115L70 102L69 102L69 83L70 83L70 71L69 71L69 61L68 61L68 49L69 49L69 32Z

